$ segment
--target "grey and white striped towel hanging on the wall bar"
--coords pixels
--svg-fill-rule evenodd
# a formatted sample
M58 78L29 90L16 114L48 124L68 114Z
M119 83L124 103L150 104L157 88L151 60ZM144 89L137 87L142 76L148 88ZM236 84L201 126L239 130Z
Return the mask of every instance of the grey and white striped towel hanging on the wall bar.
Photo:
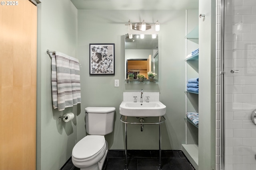
M52 55L52 105L59 111L81 103L80 70L77 59L56 52Z

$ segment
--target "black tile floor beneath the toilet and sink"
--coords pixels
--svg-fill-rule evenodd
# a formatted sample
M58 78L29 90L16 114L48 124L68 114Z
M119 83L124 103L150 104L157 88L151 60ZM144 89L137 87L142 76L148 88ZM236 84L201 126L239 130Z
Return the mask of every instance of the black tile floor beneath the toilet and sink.
M158 170L158 150L128 150L128 170ZM162 150L162 170L195 170L181 150ZM109 150L102 170L124 170L124 150ZM80 170L71 159L61 170Z

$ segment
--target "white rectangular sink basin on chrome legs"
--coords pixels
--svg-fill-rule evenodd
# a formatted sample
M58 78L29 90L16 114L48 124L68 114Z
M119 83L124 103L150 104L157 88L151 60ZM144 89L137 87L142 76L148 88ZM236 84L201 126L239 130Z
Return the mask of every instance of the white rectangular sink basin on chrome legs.
M119 112L124 116L158 117L165 115L166 106L161 102L122 102Z

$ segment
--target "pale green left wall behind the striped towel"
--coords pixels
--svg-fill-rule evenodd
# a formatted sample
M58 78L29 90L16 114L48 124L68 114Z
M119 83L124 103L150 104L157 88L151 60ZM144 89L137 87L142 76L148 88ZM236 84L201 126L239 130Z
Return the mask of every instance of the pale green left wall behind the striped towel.
M37 53L37 170L58 170L70 158L76 144L77 122L64 123L59 115L73 112L52 107L51 59L46 49L76 57L77 9L70 0L41 0L38 5Z

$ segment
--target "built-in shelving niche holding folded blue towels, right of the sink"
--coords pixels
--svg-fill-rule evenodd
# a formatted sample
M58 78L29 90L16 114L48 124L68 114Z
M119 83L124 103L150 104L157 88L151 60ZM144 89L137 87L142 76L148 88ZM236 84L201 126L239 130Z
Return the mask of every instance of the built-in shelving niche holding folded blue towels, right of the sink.
M193 13L193 15L195 15ZM189 16L189 17L188 17ZM199 76L198 60L199 53L191 55L190 53L198 48L199 44L199 26L196 25L196 22L193 22L194 18L190 19L190 14L188 15L188 10L186 12L186 30L190 29L191 31L186 35L186 54L188 54L185 61L186 69L186 85L188 79L196 78ZM194 28L194 29L191 29ZM190 92L185 90L186 97L186 113L187 112L198 112L198 92ZM186 143L182 144L182 151L194 166L198 170L198 129L199 126L195 125L190 119L186 117L184 113L184 120L186 122Z

